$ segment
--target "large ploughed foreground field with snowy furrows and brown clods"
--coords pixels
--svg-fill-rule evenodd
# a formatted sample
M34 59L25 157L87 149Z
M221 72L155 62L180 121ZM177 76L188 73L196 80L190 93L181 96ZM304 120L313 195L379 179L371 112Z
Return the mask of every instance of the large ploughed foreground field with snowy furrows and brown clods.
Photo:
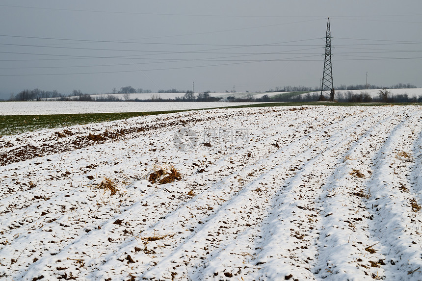
M0 279L422 280L421 148L399 105L3 136Z

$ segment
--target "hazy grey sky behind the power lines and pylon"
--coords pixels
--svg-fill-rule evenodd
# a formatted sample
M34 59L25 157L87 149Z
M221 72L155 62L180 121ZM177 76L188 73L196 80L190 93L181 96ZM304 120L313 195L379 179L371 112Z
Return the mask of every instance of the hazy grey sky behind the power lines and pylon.
M422 87L421 0L2 0L0 98L24 89Z

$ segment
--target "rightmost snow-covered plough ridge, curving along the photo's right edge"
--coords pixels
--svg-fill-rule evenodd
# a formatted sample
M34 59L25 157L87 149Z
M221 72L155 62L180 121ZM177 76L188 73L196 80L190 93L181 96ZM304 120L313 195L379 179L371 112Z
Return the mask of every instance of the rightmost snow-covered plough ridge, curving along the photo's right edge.
M400 276L414 270L412 278L422 278L417 271L418 267L422 268L422 235L415 220L421 220L421 215L420 211L412 213L410 200L414 195L409 194L408 182L410 162L400 156L400 152L412 151L421 132L420 116L421 110L411 116L407 114L406 120L396 126L373 161L374 172L368 182L371 196L367 208L373 216L369 233L374 241L379 241L373 248L385 256L385 264L376 278L385 276L399 280ZM411 256L412 260L401 259L403 255Z

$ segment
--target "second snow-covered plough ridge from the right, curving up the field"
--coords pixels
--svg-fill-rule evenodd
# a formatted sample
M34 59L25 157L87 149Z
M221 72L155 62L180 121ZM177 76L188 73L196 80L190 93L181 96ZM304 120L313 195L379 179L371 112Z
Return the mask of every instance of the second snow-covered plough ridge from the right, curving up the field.
M371 265L383 256L369 253L372 248L367 249L376 242L369 239L371 216L364 202L369 196L366 190L369 179L360 177L370 176L372 158L381 148L384 136L402 124L403 113L385 112L388 117L379 120L353 144L324 187L325 196L319 204L329 216L321 220L324 228L317 241L318 258L312 269L319 278L372 280L376 276L376 268ZM361 173L359 177L357 171Z

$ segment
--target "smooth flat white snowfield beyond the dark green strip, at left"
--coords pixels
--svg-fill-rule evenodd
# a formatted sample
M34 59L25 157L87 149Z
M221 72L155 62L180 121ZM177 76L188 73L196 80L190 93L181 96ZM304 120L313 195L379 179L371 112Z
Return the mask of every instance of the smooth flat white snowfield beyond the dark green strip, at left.
M254 103L257 102L0 102L0 115L148 112Z

